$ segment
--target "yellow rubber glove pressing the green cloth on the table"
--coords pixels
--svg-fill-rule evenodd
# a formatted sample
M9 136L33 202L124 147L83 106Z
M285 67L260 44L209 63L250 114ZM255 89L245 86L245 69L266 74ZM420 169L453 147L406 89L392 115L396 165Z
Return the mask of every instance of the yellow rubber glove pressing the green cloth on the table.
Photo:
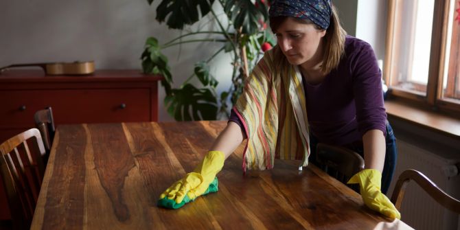
M209 184L224 166L225 155L220 151L209 151L193 172L188 173L183 179L174 183L160 195L160 199L168 197L181 203L188 196L190 200L206 192Z

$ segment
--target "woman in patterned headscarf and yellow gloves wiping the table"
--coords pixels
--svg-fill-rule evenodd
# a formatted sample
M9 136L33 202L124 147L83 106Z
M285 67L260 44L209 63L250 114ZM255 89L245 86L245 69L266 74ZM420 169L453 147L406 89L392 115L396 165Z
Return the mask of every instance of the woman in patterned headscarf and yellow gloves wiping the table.
M266 52L232 110L225 130L194 172L161 194L159 205L177 208L217 190L216 174L248 139L243 170L273 168L274 158L302 159L318 141L363 155L364 203L385 216L400 213L380 191L395 168L395 138L387 122L381 73L369 44L345 36L328 0L279 0L269 10L277 46ZM310 161L314 161L311 154ZM383 172L383 176L382 176Z

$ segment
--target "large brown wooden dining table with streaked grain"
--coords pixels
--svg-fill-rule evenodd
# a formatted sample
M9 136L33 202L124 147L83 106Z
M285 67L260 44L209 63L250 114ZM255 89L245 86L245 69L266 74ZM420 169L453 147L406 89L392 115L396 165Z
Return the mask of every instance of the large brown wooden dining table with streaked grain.
M321 170L275 161L242 174L244 144L218 174L219 191L181 209L157 207L194 169L227 122L58 127L32 229L374 229L391 220ZM379 224L380 223L380 224Z

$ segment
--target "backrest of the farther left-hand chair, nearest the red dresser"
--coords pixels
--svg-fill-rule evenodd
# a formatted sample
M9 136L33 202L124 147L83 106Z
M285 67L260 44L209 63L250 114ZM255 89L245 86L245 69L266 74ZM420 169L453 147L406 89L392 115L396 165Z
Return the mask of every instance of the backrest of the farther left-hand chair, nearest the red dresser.
M54 139L54 119L53 119L53 111L51 107L47 107L40 111L36 111L34 115L35 120L35 127L40 130L40 133L43 138L43 143L45 144L45 149L47 154L51 151L51 146L53 144Z

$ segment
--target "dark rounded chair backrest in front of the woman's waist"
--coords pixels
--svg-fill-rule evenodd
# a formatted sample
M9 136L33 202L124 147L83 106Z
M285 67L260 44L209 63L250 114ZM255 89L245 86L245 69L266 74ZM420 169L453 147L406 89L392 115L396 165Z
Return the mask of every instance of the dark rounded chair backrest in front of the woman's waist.
M357 152L327 143L317 144L317 161L323 170L338 181L347 181L364 169L364 159Z

